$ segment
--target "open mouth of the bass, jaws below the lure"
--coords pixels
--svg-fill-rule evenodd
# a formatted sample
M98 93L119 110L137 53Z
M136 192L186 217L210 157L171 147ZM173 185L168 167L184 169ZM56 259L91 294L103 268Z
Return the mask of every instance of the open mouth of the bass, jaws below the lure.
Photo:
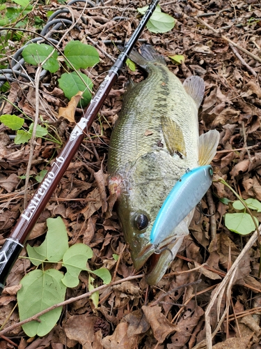
M155 246L149 244L136 255L134 267L135 269L141 269L143 266L147 267L145 280L148 285L156 285L162 279L166 269L174 260L182 241L183 237L177 238L175 241L173 241L173 238L167 239L161 246L161 253L155 253Z

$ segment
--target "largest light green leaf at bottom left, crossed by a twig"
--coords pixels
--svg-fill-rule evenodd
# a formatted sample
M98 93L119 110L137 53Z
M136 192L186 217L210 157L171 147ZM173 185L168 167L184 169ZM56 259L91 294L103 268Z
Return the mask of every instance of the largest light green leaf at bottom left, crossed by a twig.
M66 286L61 282L62 278L63 274L55 269L49 269L46 272L37 269L24 276L20 281L22 288L17 292L21 321L49 308L49 306L63 302ZM40 321L31 321L22 325L24 332L29 337L36 334L45 336L56 325L62 309L62 307L53 309L40 316Z

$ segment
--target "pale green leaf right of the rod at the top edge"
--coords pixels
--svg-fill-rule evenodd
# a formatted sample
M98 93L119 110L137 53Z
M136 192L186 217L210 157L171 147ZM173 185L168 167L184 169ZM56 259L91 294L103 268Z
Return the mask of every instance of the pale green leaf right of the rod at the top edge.
M148 6L143 8L137 8L141 15L144 15ZM152 33L166 33L166 31L170 31L175 26L175 20L170 15L161 12L161 8L158 5L152 13L148 24L146 25L147 29Z

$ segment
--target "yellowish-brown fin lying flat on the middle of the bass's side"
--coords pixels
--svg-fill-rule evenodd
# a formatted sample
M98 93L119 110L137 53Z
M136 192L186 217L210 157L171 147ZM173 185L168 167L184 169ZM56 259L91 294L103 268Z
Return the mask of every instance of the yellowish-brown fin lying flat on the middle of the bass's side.
M181 158L187 156L186 144L184 141L182 129L169 117L161 117L161 128L164 134L166 147L171 156L177 154Z

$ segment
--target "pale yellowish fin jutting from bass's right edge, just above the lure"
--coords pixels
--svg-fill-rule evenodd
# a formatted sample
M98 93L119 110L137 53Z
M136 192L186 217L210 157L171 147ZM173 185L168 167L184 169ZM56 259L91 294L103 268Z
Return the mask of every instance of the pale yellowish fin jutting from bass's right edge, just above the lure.
M210 130L199 138L198 165L204 166L211 163L216 155L216 147L219 145L219 132Z

